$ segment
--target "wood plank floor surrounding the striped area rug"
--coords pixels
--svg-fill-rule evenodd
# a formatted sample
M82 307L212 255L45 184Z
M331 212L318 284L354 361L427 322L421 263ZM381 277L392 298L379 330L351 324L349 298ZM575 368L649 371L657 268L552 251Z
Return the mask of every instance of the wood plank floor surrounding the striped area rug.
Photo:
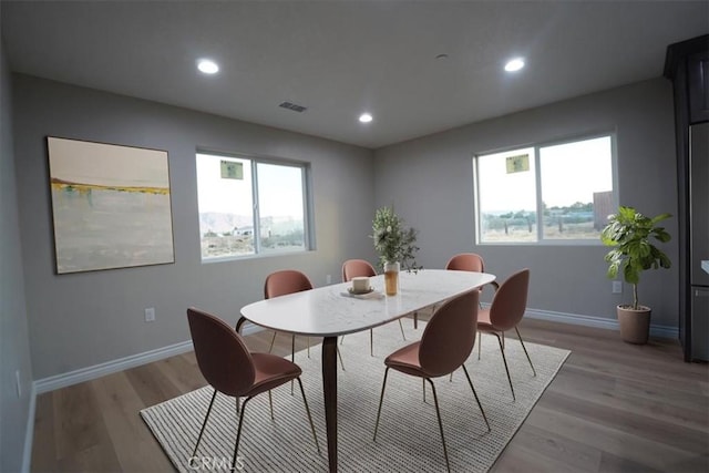
M707 364L685 363L674 341L638 347L609 330L528 319L521 327L525 340L572 354L494 472L709 471ZM249 347L267 350L271 333L247 337ZM278 337L279 354L289 343ZM172 471L138 411L204 384L189 352L42 394L31 469Z

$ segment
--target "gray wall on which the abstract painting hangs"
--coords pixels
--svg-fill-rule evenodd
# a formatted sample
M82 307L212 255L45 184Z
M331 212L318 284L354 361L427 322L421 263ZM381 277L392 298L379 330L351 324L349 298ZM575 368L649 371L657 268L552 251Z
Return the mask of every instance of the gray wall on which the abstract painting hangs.
M373 157L369 150L157 103L13 76L16 164L35 379L188 340L185 309L228 321L263 298L266 275L305 271L316 286L340 278L349 257L373 259ZM175 264L55 275L45 136L166 150ZM311 163L317 249L202 264L195 148ZM156 321L143 310L154 307Z

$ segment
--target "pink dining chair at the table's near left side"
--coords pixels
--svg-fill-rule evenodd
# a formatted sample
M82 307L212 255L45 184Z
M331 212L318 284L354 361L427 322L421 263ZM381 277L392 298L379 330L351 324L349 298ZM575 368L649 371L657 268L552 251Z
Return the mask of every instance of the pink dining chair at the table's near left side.
M270 415L273 419L274 403L270 397L270 390L292 380L298 380L302 402L306 407L306 414L310 423L310 431L312 432L312 439L315 440L318 453L320 453L320 445L318 444L318 436L315 432L312 417L310 415L310 408L308 407L306 392L300 381L300 374L302 374L300 367L292 361L275 354L249 352L242 336L226 322L210 313L189 308L187 309L187 320L189 322L189 332L197 358L197 366L204 378L214 388L214 394L212 394L212 401L209 401L209 408L202 423L199 436L197 436L197 443L195 443L192 456L194 457L197 453L197 448L204 434L204 429L207 425L207 420L209 419L217 392L236 398L236 412L239 417L239 423L236 431L234 456L232 459L232 465L235 465L239 441L242 439L244 413L246 412L248 401L268 391ZM242 403L240 412L239 398L246 398Z

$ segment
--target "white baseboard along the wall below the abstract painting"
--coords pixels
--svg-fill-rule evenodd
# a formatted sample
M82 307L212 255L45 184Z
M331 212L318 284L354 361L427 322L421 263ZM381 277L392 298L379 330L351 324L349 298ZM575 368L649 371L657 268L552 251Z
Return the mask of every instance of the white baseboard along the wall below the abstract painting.
M250 335L263 330L258 326L251 323L245 325L242 333ZM191 351L192 340L182 341L179 343L169 345L167 347L157 348L155 350L145 351L143 353L132 354L130 357L120 358L117 360L106 361L105 363L94 364L93 367L81 368L68 373L56 374L49 378L37 380L32 383L32 389L37 394L53 391L55 389L66 388L68 385L78 384L80 382L90 381L106 374L124 371L141 364L152 363L176 354Z

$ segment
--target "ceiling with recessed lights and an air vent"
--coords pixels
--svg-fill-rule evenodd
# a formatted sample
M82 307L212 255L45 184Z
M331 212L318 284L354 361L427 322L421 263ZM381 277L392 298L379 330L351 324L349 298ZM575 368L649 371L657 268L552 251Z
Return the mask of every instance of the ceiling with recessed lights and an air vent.
M668 44L709 32L709 1L2 0L0 14L16 72L372 148L660 76ZM506 74L514 55L527 66ZM201 56L222 71L198 73Z

